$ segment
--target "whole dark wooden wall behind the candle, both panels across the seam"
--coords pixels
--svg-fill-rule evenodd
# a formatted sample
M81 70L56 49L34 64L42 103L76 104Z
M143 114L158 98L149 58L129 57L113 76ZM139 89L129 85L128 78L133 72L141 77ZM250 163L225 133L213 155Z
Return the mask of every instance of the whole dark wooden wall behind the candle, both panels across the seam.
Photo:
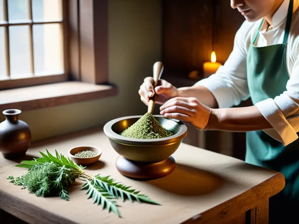
M231 8L230 1L163 0L163 63L165 73L187 76L202 71L210 61L212 33L217 61L224 63L233 49L234 36L244 17ZM213 13L215 29L213 32Z

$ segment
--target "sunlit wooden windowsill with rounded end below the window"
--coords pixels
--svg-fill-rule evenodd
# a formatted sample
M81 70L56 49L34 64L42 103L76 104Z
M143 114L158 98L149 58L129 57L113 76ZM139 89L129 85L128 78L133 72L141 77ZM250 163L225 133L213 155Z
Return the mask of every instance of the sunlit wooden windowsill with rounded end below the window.
M116 85L95 85L85 82L60 82L0 91L0 111L30 111L68 103L116 96Z

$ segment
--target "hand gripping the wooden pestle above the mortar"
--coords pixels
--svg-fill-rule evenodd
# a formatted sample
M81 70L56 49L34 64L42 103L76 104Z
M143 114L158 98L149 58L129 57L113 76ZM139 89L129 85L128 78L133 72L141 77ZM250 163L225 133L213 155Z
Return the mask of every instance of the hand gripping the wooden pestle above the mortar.
M155 92L152 83L154 83L154 79L152 77L147 77L144 79L144 82L138 90L141 101L144 102L145 105L148 106L149 97L154 96L154 93L158 95L156 103L160 105L164 104L167 100L178 96L177 88L164 79L158 81Z

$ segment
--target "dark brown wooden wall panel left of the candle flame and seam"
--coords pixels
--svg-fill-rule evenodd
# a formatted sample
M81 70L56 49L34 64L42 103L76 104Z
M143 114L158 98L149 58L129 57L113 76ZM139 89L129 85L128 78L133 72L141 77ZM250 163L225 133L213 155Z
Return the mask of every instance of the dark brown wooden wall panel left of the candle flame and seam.
M210 0L164 0L163 63L168 69L188 71L202 69L210 58L212 13Z

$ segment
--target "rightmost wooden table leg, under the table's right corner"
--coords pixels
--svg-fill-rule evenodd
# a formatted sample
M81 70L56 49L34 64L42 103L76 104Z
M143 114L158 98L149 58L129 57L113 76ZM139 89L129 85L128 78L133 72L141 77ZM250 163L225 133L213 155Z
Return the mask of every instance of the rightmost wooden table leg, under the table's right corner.
M269 198L251 208L251 224L269 223Z

